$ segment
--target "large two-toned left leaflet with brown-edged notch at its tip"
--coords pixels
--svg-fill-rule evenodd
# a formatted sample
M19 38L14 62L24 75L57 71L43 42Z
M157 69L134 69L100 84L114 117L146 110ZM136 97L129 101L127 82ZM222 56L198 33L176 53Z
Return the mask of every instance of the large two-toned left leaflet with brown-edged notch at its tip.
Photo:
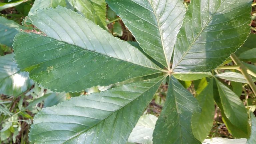
M79 92L161 72L137 48L72 10L40 9L28 20L47 36L17 34L15 59L44 88Z

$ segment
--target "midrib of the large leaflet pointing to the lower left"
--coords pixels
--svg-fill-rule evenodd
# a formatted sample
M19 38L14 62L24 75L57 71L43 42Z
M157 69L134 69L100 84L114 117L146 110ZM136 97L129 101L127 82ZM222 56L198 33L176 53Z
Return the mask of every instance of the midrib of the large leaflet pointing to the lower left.
M146 93L149 89L151 89L152 87L154 87L156 84L158 84L160 81L162 81L163 79L165 79L167 76L168 76L168 75L163 76L162 79L160 79L159 81L157 81L153 86L149 87L145 92L141 93L141 95L143 95L144 93ZM109 117L110 117L112 114L114 114L115 112L121 110L122 108L124 108L124 107L127 106L128 104L134 102L134 101L135 101L136 99L138 99L141 95L139 95L138 97L134 98L133 100L131 100L130 102L128 102L128 103L125 104L124 106L120 107L119 109L113 111L113 112L112 112L111 114L109 114L106 118L100 120L98 123L96 123L95 125L91 126L91 127L88 128L87 130L83 130L83 131L81 131L78 135L75 135L75 136L71 137L70 139L67 139L65 142L67 142L67 141L69 141L69 140L71 140L71 139L73 139L73 138L75 138L75 137L77 137L77 136L83 134L84 132L86 132L86 131L92 129L93 127L97 126L99 123L101 123L102 121L104 121L104 120L106 120L107 118L109 118ZM63 144L64 144L65 142L63 142Z

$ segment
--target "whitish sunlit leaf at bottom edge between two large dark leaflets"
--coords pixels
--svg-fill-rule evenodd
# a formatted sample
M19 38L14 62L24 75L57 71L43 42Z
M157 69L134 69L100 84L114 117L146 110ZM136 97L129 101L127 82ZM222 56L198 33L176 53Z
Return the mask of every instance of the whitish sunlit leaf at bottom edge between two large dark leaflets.
M128 142L130 143L141 143L141 144L152 144L153 143L153 131L157 117L152 114L142 115L133 128Z

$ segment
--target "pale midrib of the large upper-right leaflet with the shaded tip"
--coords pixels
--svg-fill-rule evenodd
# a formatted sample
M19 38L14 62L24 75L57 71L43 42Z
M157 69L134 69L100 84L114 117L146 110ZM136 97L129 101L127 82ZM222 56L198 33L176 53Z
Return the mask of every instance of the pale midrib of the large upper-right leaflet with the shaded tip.
M192 1L193 2L193 1ZM223 2L220 4L220 6L218 7L218 9L216 10L216 12L212 15L212 17L207 21L207 23L205 24L205 26L201 29L201 31L197 34L196 38L193 40L193 42L190 44L190 46L188 47L188 50L183 54L183 56L180 58L179 62L175 65L175 67L172 68L172 71L180 64L180 62L183 60L183 58L187 55L187 53L190 51L192 45L194 45L194 43L196 42L196 40L198 39L198 37L201 35L201 33L203 32L203 30L205 29L205 27L209 24L209 22L212 20L212 18L215 16L215 14L218 12L219 8L221 7L221 5L225 2L225 0L223 0ZM194 6L194 4L193 4ZM208 6L209 8L209 6ZM200 7L201 9L201 7ZM208 10L208 14L209 14L209 10ZM201 11L200 11L200 15L201 15ZM193 14L192 14L193 17ZM193 20L193 18L192 18ZM200 17L200 21L201 21L201 17ZM184 24L185 25L185 24ZM193 28L193 27L192 27ZM194 33L194 30L192 30L192 32ZM194 36L194 34L193 34Z

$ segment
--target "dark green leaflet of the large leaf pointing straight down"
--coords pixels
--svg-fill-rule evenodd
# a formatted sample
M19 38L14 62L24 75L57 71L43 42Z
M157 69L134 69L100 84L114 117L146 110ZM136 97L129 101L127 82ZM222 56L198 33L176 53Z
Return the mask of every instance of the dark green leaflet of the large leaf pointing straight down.
M153 143L200 144L191 129L195 112L200 112L197 100L171 76L166 102L153 133Z

